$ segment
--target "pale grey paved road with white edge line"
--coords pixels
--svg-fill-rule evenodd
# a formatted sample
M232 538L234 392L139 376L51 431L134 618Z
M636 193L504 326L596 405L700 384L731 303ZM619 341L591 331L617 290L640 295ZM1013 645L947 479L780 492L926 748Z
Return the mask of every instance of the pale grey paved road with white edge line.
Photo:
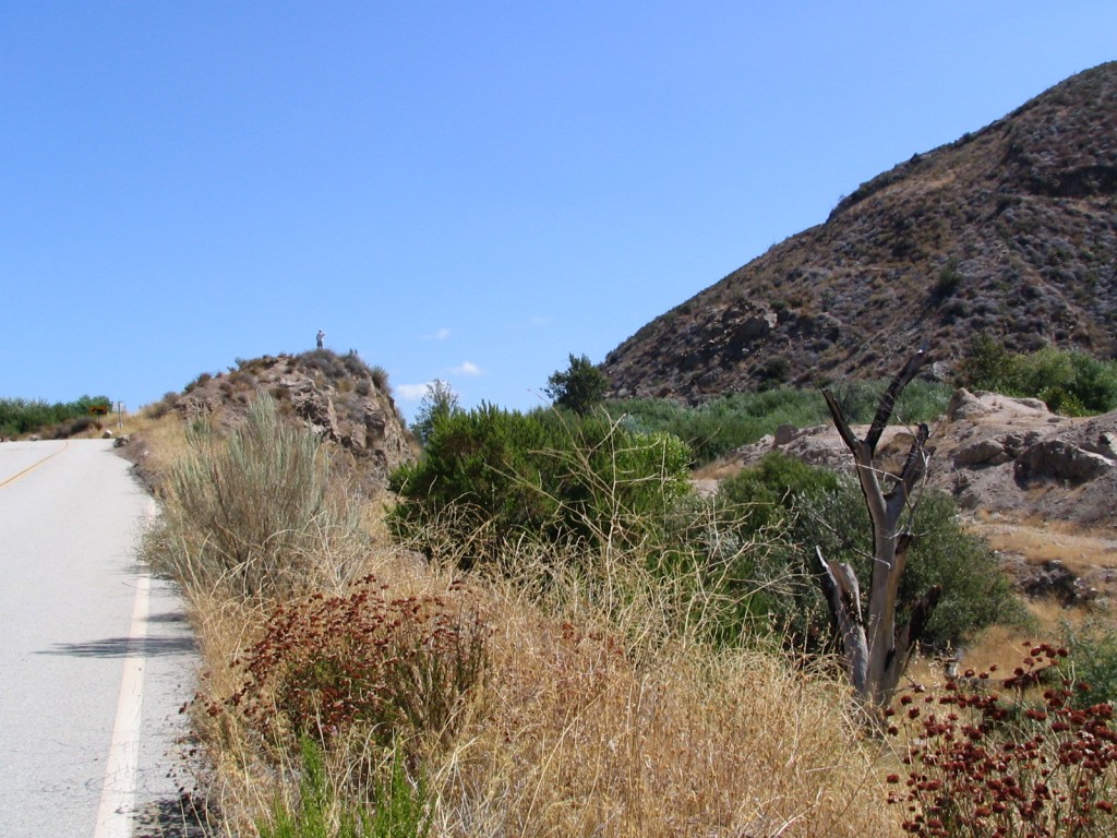
M3 838L160 834L194 654L136 562L153 512L108 441L0 444Z

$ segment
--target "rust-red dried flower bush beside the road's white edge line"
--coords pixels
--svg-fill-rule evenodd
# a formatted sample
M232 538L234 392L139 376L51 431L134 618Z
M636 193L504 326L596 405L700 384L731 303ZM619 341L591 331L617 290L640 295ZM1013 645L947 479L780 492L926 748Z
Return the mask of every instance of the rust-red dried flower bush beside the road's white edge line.
M359 723L384 744L448 736L481 676L488 634L457 593L392 598L370 575L344 596L280 604L238 661L244 685L210 713L238 708L288 745L303 735L325 743Z

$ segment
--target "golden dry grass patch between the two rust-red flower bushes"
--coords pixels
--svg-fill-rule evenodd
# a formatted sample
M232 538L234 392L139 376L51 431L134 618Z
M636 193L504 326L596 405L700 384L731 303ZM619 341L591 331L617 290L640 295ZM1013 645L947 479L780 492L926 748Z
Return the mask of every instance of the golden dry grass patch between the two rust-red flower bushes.
M498 600L486 706L435 773L452 836L887 834L872 749L828 674Z

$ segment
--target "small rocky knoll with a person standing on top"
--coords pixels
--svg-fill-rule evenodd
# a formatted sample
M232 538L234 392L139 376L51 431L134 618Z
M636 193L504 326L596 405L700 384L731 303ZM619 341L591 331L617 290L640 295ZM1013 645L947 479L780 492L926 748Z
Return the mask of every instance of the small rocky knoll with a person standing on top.
M237 363L228 372L200 375L184 392L164 397L163 404L185 418L204 415L232 425L259 392L268 392L292 421L344 453L335 459L370 488L383 486L389 473L416 456L386 374L355 353L317 350Z

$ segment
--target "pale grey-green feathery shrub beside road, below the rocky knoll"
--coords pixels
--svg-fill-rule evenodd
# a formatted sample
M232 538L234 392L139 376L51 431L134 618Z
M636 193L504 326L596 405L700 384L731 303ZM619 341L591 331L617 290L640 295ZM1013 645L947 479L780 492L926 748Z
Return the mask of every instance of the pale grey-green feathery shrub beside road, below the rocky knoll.
M228 436L202 418L187 439L144 542L154 566L187 585L249 596L344 574L349 553L335 549L359 549L357 510L331 488L318 438L286 425L271 397L261 393Z

